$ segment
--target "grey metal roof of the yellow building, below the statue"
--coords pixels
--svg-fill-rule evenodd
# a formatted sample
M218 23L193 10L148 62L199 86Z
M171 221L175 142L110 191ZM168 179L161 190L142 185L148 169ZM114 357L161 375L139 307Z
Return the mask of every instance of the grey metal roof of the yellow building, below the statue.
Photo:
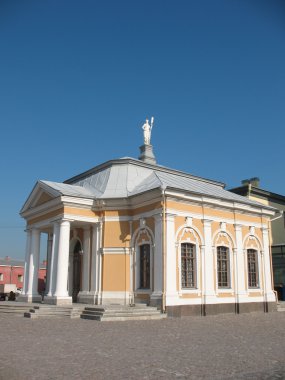
M131 158L108 161L64 183L50 181L39 183L58 195L74 197L127 198L157 188L168 188L272 209L225 190L225 185L221 182Z

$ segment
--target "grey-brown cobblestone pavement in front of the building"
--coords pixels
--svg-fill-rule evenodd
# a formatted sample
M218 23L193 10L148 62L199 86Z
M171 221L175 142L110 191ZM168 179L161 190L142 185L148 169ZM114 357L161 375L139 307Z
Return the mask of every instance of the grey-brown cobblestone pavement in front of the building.
M0 326L1 380L285 379L285 312Z

